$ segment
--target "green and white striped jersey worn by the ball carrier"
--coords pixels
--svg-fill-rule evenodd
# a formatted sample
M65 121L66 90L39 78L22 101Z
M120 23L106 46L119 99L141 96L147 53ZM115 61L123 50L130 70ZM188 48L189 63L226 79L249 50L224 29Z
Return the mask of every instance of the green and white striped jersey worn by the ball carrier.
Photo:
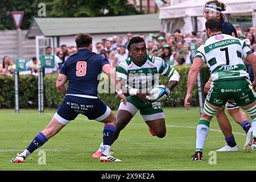
M141 67L134 64L132 57L121 61L117 77L119 80L126 80L129 88L151 89L159 85L159 74L170 78L175 72L162 58L147 55L147 61Z

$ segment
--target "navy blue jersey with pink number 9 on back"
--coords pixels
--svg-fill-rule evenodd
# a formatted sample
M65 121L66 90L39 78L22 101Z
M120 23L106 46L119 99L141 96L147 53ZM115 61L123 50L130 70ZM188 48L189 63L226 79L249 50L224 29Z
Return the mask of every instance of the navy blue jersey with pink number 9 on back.
M98 75L109 61L89 49L80 49L61 65L60 73L68 77L67 94L97 97Z

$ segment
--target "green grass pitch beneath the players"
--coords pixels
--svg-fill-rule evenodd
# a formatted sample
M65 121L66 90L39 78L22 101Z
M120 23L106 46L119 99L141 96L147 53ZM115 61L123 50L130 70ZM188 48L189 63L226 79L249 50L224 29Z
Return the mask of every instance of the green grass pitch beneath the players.
M113 144L113 156L121 163L101 163L92 154L102 141L103 124L79 115L44 146L28 156L24 163L10 163L17 152L22 152L39 131L51 120L55 110L0 110L0 169L1 170L255 170L256 152L244 153L245 132L230 119L233 134L240 147L238 152L217 152L217 164L209 164L210 151L225 144L216 118L210 123L203 161L191 161L195 151L198 108L164 108L167 134L152 137L146 123L137 113ZM115 112L116 113L116 112ZM229 117L230 118L230 117ZM46 154L46 164L39 164L39 151Z

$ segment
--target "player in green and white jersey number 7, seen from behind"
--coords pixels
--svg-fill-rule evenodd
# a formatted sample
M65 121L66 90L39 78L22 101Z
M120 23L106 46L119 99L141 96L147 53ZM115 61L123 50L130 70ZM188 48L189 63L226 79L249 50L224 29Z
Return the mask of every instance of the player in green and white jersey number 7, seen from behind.
M188 74L188 90L184 106L189 109L193 85L203 65L207 63L212 84L204 103L204 111L199 119L196 132L196 152L192 160L202 160L205 139L209 133L210 120L229 99L236 103L253 119L253 143L256 150L256 93L255 81L251 84L242 58L251 64L256 73L256 56L243 40L222 34L220 20L212 18L205 23L209 39L197 49Z

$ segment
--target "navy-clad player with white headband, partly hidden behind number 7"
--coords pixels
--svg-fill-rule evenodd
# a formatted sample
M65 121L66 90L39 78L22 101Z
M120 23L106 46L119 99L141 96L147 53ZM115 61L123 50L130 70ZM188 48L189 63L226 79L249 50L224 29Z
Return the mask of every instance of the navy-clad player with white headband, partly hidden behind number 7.
M208 1L205 3L204 7L204 16L205 19L210 18L218 18L221 21L222 25L222 32L223 34L232 35L237 38L237 31L234 26L225 21L225 17L222 14L223 11L226 10L226 5L220 1ZM207 84L205 84L204 92L207 94L210 89L210 85L212 84L212 78L209 78L209 81ZM228 109L228 113L232 116L234 121L236 121L243 130L245 130L246 133L246 142L243 147L243 151L249 152L251 150L251 140L253 138L253 130L251 129L251 124L249 119L247 118L246 113L240 110L240 107L234 102L233 100L228 100L226 103L226 107ZM234 136L232 134L232 126L230 125L228 117L226 117L225 114L225 107L222 107L222 109L218 110L216 113L216 118L218 121L218 125L220 126L220 129L222 133L225 136L226 145L222 148L220 148L217 151L220 152L228 152L228 151L238 151L238 146L236 143L236 140L234 139Z

